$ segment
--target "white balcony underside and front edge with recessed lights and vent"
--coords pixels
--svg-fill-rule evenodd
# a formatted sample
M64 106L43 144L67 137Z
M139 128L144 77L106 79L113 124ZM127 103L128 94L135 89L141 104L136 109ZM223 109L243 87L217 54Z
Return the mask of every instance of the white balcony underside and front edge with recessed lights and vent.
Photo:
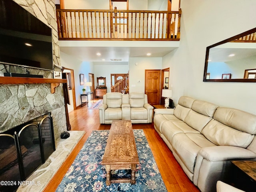
M154 41L112 41L108 43L103 41L60 41L59 44L61 52L88 62L118 62L111 61L111 59L122 59L122 62L128 62L130 57L163 57L179 46L179 42ZM97 53L100 53L100 56ZM147 53L151 53L151 55L147 56Z

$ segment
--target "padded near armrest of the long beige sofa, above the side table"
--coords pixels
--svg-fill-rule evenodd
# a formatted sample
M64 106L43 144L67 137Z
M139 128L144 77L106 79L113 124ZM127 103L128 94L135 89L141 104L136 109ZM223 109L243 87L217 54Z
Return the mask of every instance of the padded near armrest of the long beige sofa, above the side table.
M212 146L202 148L198 154L208 161L228 161L234 159L256 158L250 150L234 146Z

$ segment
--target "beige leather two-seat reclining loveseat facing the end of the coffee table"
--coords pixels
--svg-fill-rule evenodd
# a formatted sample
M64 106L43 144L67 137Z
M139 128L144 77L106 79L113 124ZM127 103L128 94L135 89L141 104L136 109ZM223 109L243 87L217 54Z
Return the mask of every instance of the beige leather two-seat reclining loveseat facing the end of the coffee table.
M112 120L131 120L132 123L152 123L153 107L148 104L144 93L107 93L99 108L101 124L111 124Z

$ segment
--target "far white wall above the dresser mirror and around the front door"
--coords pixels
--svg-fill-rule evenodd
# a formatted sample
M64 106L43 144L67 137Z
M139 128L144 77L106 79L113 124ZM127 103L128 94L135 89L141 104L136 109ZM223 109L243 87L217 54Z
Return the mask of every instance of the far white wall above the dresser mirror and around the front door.
M102 63L102 64L100 64ZM116 63L116 62L115 62ZM97 86L97 77L106 77L107 92L111 92L111 78L110 74L115 73L128 73L128 64L115 64L111 62L94 62L94 83Z

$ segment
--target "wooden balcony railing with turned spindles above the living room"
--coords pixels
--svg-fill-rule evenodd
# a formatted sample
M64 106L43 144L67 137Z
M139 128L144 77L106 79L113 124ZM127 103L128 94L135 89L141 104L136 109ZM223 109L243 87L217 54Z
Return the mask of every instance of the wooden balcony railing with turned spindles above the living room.
M57 9L60 40L179 40L179 11Z

